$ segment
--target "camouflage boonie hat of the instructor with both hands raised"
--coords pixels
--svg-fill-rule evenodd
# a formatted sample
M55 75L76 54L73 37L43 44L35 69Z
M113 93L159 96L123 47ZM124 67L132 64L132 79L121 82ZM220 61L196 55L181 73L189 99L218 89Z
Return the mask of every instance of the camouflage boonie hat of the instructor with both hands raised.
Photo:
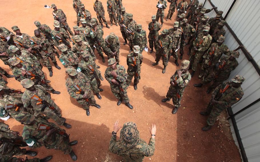
M134 147L140 141L139 131L133 122L127 122L120 131L120 141L125 147Z

